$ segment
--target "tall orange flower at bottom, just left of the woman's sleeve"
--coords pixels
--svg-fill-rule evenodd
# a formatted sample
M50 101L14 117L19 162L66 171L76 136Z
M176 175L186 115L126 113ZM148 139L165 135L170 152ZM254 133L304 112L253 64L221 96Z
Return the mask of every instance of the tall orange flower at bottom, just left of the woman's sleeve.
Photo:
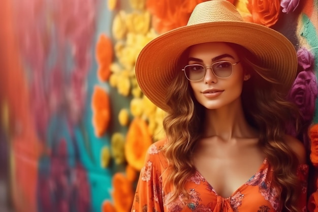
M113 188L114 192L112 197L116 211L130 211L134 200L132 182L129 181L122 173L117 172L113 176Z

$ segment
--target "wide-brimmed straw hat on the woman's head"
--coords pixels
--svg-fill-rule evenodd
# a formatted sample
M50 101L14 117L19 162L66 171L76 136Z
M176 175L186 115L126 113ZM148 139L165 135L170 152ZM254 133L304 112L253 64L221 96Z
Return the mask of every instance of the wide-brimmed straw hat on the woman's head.
M297 73L297 54L282 34L266 26L243 21L230 2L200 3L182 26L150 41L136 62L136 78L150 101L167 110L165 94L176 74L181 53L189 46L206 42L230 42L244 46L264 65L277 72L282 92L290 89Z

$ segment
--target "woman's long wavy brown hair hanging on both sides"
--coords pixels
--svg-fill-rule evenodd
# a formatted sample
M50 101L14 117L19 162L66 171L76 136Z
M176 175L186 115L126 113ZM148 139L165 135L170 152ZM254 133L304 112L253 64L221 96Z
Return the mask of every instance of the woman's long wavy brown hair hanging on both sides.
M296 212L299 194L296 170L299 162L283 137L287 120L299 114L298 108L285 100L285 94L278 92L281 85L274 71L263 67L256 56L242 46L228 44L239 52L244 70L251 74L251 78L243 84L243 111L249 125L259 131L259 145L273 167L273 185L281 192L283 211ZM180 57L180 71L167 89L166 103L170 109L163 122L168 139L163 152L169 163L164 186L174 187L170 201L183 197L185 202L189 195L184 185L196 170L192 158L195 144L202 136L205 119L205 110L196 101L181 71L186 56L187 51Z

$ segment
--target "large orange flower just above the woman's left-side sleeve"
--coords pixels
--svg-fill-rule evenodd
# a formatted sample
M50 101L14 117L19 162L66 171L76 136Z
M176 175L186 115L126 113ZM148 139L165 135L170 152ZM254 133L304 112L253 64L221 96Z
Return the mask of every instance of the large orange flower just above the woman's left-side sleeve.
M135 118L126 134L125 156L128 164L140 171L151 143L147 124L143 119Z

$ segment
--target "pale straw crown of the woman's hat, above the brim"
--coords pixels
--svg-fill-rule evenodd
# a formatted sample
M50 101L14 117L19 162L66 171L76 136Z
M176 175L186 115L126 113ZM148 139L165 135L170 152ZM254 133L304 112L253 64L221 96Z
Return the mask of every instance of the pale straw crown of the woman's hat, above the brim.
M198 4L187 25L218 21L243 21L235 6L226 0L212 0Z

